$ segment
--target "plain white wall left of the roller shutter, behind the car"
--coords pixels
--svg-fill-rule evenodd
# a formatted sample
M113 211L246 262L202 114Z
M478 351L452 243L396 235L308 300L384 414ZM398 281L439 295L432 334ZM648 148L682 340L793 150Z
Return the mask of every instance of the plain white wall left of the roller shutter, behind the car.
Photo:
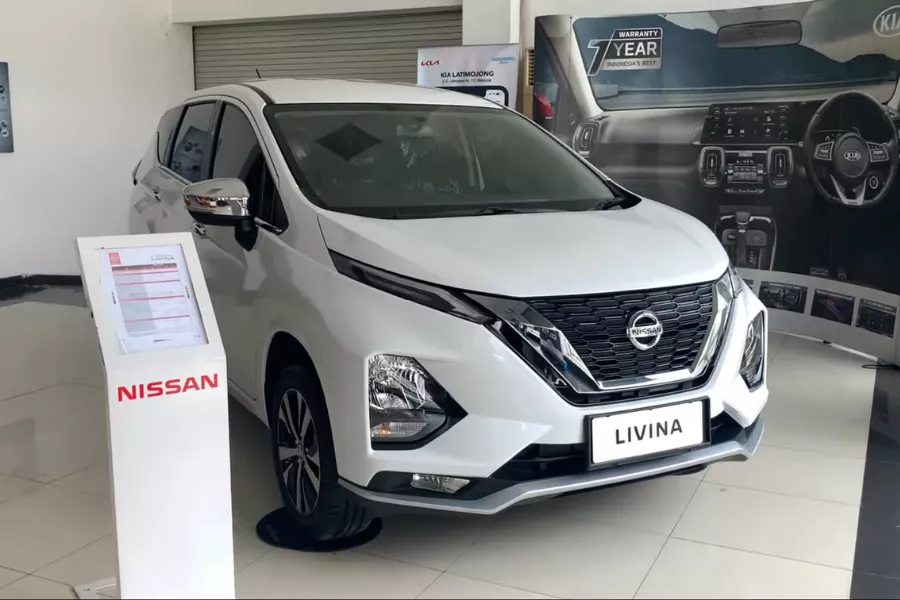
M170 0L0 0L15 152L0 154L0 278L77 274L75 237L124 233L131 171L193 89Z

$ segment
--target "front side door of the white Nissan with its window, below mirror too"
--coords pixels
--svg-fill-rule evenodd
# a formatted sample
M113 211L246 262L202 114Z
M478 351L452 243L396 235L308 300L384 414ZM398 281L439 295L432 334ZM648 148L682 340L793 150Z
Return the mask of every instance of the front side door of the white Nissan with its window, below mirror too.
M239 228L194 223L192 231L228 355L229 379L253 398L257 395L258 329L254 303L263 280L259 249L269 233L265 221L277 192L256 130L243 108L221 103L214 139L209 178L243 181L250 192L250 212L259 224Z

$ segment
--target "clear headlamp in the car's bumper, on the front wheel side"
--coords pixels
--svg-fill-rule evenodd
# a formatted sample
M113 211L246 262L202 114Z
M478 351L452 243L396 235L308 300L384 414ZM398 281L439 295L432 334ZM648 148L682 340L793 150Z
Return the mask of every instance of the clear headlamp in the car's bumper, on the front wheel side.
M416 442L447 423L447 393L415 359L377 354L369 359L372 442Z

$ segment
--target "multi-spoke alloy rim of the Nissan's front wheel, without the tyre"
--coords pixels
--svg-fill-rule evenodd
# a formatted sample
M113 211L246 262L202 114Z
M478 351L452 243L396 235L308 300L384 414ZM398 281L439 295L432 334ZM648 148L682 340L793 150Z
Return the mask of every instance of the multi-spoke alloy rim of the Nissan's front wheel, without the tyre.
M278 407L278 459L281 479L301 515L312 514L319 501L322 463L316 424L306 399L287 390Z

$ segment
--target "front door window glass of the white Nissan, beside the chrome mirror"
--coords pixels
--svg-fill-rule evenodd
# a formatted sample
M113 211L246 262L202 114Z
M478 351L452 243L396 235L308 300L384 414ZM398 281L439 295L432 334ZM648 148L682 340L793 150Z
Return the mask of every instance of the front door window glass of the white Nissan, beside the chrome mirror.
M280 229L287 228L281 196L256 132L244 113L230 104L222 111L212 166L212 178L222 177L236 177L247 184L254 216Z

